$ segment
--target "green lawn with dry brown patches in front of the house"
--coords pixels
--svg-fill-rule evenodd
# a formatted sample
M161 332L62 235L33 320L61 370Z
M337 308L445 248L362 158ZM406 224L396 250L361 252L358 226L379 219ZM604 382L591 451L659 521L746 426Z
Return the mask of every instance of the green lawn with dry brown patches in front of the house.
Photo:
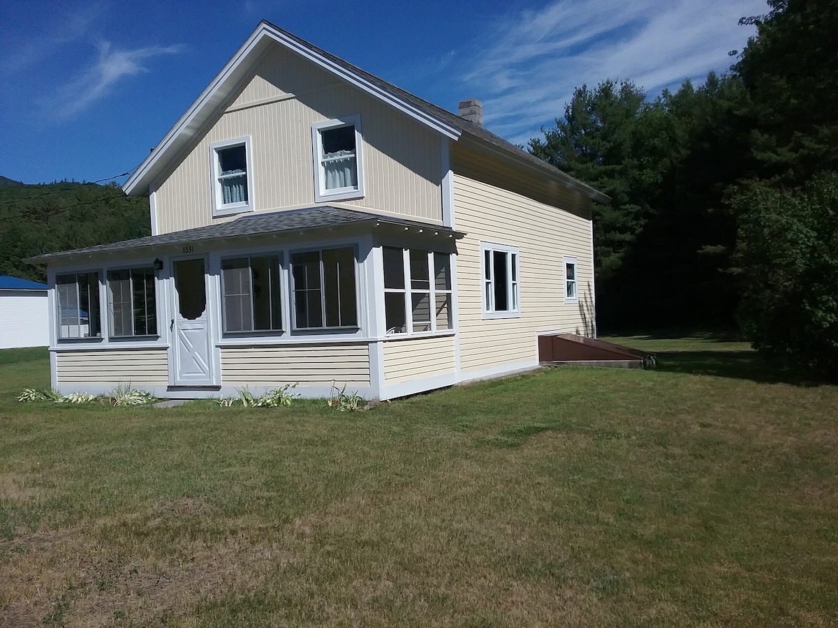
M838 624L838 387L711 335L339 413L20 404L0 625Z

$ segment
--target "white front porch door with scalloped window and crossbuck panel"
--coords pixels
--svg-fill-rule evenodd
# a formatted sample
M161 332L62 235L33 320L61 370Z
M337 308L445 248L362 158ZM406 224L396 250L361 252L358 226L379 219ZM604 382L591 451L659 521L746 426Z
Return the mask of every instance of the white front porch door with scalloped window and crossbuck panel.
M174 262L174 318L170 327L174 385L211 385L213 360L204 258Z

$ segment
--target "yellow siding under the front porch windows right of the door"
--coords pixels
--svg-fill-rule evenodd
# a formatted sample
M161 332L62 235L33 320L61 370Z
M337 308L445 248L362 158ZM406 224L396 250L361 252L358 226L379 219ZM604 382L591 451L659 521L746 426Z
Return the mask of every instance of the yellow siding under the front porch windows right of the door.
M370 385L370 349L365 342L221 349L225 386L329 386L333 381L339 388L344 383Z

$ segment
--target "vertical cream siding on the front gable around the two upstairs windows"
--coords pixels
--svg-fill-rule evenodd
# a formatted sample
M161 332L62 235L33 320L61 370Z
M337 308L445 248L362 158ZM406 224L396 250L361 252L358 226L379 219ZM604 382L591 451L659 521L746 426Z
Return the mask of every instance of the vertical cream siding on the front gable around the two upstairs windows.
M158 233L214 224L209 145L251 136L256 211L313 205L311 126L360 114L365 198L342 203L442 221L442 146L434 131L273 47L223 115L178 157L158 188Z

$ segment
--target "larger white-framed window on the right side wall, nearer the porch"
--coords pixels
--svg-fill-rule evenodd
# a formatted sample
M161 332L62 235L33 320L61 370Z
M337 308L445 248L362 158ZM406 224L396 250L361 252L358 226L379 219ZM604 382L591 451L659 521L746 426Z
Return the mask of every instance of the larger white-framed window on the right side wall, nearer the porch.
M480 245L483 266L483 311L485 318L515 317L520 313L518 249L504 245Z

